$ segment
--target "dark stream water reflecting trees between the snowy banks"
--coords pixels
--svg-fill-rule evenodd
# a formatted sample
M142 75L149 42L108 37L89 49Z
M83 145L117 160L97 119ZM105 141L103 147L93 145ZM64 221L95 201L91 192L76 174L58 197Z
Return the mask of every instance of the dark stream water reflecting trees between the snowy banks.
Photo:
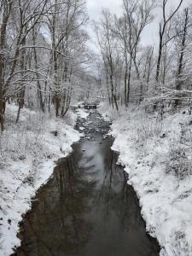
M113 138L103 139L108 123L92 111L77 126L85 128L86 137L38 190L20 225L21 247L15 255L159 255L157 241L146 234L137 195L116 165Z

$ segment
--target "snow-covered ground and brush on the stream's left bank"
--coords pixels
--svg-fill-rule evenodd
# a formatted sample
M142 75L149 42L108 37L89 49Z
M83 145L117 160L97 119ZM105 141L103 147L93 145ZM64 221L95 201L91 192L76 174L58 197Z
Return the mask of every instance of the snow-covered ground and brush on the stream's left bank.
M80 134L73 129L77 114L50 119L43 113L22 109L15 125L15 105L8 105L6 129L0 137L0 255L20 246L16 237L21 214L31 207L37 189L51 176L55 160L72 150ZM85 114L81 113L82 116Z

